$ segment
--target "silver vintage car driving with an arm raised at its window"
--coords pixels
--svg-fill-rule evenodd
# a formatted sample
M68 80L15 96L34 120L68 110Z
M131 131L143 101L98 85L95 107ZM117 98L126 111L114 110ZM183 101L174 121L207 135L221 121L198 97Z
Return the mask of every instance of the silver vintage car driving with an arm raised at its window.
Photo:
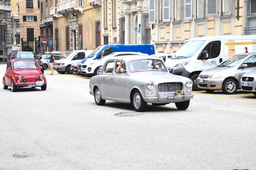
M107 59L100 74L90 78L89 93L97 105L111 100L145 111L147 103L175 103L177 109L186 110L194 97L192 84L189 78L170 74L157 57L129 55Z

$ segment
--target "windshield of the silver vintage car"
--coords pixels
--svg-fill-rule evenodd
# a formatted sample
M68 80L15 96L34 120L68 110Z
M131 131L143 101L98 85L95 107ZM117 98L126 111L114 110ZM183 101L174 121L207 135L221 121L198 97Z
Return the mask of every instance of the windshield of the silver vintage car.
M164 63L160 59L137 59L128 62L129 71L167 71Z

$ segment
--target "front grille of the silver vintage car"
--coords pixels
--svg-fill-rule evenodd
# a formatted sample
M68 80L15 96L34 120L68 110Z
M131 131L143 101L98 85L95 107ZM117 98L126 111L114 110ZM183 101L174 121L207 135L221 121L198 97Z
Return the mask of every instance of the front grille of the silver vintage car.
M159 92L175 92L177 90L182 90L183 83L181 82L163 82L157 85Z

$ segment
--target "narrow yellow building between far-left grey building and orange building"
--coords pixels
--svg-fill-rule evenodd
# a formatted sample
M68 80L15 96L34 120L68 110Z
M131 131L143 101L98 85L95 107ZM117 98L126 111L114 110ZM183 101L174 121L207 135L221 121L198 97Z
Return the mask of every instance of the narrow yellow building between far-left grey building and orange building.
M13 50L20 49L20 0L11 0L12 7L12 45Z

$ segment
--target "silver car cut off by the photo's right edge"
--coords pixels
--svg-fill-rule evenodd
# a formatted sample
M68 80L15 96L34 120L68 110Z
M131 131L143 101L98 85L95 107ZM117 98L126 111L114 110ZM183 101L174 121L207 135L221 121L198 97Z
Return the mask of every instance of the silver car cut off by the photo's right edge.
M240 79L240 85L241 91L251 92L256 96L256 69L244 73Z

